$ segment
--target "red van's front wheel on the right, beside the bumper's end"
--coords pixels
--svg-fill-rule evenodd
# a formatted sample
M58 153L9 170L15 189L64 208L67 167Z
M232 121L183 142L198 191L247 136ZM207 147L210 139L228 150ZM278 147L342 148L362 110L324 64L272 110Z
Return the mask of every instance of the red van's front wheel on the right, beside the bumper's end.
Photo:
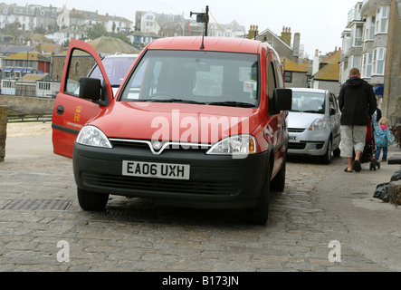
M245 221L256 225L265 225L269 218L270 172L264 181L261 197L255 208L245 209Z

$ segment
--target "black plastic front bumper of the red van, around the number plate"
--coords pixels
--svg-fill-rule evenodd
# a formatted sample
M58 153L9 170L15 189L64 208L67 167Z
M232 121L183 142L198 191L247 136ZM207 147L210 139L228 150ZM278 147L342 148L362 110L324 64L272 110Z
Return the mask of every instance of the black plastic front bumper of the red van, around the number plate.
M122 174L123 161L190 166L189 179L156 179ZM94 193L151 198L169 206L188 208L253 208L266 179L268 153L206 155L205 150L165 150L154 155L143 146L102 149L74 144L73 172L77 187Z

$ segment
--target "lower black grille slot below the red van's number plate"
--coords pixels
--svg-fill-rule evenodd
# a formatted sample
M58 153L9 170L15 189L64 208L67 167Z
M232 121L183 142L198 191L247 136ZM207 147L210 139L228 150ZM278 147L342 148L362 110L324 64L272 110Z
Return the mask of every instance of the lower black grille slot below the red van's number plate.
M233 182L193 181L176 179L149 179L82 173L84 183L110 189L132 189L141 192L168 192L198 195L234 195L240 184Z

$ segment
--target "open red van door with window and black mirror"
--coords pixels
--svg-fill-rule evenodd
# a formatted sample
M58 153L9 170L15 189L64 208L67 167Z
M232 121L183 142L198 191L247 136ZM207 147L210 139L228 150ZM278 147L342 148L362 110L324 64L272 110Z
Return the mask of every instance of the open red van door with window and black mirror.
M91 79L89 83L99 93L85 95L85 86L81 82L88 81L86 77L95 65L99 66L103 79ZM90 44L78 40L70 43L61 81L60 92L53 107L53 151L72 158L73 144L81 128L105 111L112 101L113 92L96 50Z

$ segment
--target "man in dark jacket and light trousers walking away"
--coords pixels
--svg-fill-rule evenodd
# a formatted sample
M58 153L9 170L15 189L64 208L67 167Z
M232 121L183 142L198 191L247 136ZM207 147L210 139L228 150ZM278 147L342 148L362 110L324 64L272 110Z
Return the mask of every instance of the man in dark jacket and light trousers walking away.
M347 159L346 172L360 171L360 156L365 147L369 116L377 109L377 100L372 86L360 78L357 68L349 72L349 79L339 92L341 110L341 156ZM354 157L355 150L355 160Z

